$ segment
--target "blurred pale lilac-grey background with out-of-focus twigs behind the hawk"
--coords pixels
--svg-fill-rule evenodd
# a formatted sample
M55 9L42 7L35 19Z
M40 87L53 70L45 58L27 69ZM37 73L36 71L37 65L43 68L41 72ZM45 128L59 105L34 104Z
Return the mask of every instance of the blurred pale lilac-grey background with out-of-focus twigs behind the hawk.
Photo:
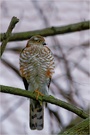
M1 0L1 33L6 32L11 18L20 19L13 32L24 32L64 26L90 19L89 0ZM46 37L55 58L49 94L88 112L90 101L89 30ZM19 55L27 40L8 42L0 65L0 84L24 88L19 74ZM48 103L44 129L29 128L29 100L0 93L1 135L50 135L60 133L81 121L74 113Z

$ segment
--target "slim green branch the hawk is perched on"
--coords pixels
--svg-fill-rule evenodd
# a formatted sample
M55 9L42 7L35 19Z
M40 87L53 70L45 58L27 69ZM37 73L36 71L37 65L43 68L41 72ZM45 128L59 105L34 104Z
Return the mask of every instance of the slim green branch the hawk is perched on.
M0 85L0 89L1 89L1 92L4 92L4 93L14 94L14 95L18 95L18 96L24 96L24 97L28 97L28 98L32 98L32 99L36 100L36 94L33 92L30 92L30 91L25 91L25 90L22 90L19 88L13 88L13 87L3 86L3 85ZM42 102L45 101L45 102L63 107L65 109L77 114L78 116L80 116L82 118L88 117L88 114L86 112L84 112L83 110L81 110L69 103L56 99L53 96L45 96L45 95L39 96L38 100L40 100Z

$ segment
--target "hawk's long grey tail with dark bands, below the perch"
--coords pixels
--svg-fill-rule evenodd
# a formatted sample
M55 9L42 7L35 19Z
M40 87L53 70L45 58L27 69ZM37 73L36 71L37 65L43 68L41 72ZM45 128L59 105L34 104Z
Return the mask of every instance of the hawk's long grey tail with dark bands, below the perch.
M39 101L30 100L30 117L29 124L32 130L42 130L43 129L43 117L44 117L44 105L39 103Z

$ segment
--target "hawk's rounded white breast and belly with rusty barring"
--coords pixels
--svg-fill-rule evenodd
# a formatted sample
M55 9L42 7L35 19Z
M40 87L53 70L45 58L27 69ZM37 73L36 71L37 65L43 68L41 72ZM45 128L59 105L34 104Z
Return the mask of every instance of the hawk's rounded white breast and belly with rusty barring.
M20 57L20 69L29 82L44 83L53 72L53 57L47 47L25 48Z

